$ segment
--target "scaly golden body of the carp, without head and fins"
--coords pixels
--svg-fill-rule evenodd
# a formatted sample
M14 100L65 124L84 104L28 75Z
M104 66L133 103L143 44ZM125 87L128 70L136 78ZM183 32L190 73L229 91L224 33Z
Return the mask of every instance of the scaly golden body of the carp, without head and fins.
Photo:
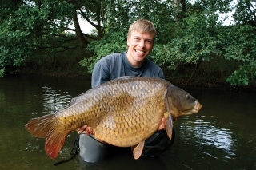
M157 131L166 112L167 81L133 77L110 81L83 93L56 115L59 131L70 132L82 125L95 136L120 147L146 140Z

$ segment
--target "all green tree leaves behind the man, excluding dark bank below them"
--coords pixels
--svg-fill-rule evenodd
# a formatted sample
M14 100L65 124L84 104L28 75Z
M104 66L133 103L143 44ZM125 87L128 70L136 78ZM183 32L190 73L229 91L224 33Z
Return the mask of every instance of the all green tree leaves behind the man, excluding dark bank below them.
M5 7L0 9L1 75L6 66L22 65L25 60L38 61L38 65L42 65L43 61L54 61L54 57L41 60L34 57L35 53L47 56L59 50L77 48L78 43L69 44L70 40L64 32L77 13L96 28L96 36L85 36L90 41L98 38L87 47L94 55L86 55L80 61L80 65L89 72L100 58L126 50L130 24L138 18L145 18L154 22L158 30L154 49L150 53L150 59L158 65L171 70L191 66L198 69L198 73L209 75L210 72L222 73L231 85L255 82L254 1L180 1L182 6L178 8L174 8L170 0L23 2L27 5L5 3ZM235 25L223 26L218 20L218 12L232 10Z

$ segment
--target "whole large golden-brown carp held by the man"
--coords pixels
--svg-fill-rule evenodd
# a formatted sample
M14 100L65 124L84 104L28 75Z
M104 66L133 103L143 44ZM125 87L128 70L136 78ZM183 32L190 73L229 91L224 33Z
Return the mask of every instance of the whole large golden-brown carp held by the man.
M158 130L166 118L171 139L172 119L197 113L199 102L189 93L155 77L119 77L82 93L69 107L31 119L26 129L36 137L46 137L50 158L58 152L68 134L82 125L93 128L95 136L108 144L134 148L134 158L142 154L144 141ZM172 118L171 118L172 117Z

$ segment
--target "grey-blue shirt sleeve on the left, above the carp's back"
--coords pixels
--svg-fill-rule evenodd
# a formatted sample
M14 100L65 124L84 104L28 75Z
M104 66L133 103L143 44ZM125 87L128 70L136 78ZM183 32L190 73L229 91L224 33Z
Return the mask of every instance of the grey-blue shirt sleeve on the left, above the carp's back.
M91 77L91 87L94 88L106 81L110 81L110 74L106 64L104 65L102 61L98 61L94 65L92 77Z

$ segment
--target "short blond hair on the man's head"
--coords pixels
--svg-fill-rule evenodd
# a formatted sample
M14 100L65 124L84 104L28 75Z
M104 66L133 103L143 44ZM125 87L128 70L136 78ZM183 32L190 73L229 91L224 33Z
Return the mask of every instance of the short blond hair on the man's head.
M130 38L132 31L138 31L140 33L148 33L153 34L153 42L156 38L157 31L154 27L154 24L146 19L138 19L134 23L130 25L130 28L128 30L127 38Z

